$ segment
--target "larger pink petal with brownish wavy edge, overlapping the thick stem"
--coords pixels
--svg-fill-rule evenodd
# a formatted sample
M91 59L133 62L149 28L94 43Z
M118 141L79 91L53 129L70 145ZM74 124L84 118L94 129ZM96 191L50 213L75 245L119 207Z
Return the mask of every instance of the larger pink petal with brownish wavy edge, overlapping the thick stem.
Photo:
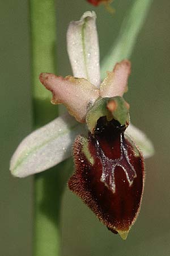
M85 122L87 109L99 97L99 89L86 79L41 73L41 83L53 93L53 104L64 104L78 122Z

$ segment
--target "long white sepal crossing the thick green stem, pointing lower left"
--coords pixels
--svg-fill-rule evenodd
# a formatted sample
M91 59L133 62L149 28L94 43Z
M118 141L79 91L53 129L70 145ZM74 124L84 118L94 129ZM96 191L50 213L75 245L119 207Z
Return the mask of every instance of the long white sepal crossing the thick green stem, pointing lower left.
M33 131L23 139L11 158L12 175L36 174L69 158L74 139L83 129L84 125L65 114Z

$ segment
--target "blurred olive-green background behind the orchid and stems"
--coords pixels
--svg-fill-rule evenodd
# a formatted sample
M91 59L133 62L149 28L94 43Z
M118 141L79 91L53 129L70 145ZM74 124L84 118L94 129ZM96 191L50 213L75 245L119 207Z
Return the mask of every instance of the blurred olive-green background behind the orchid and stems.
M142 0L141 0L142 1ZM85 0L57 0L57 74L71 74L66 53L70 20L86 10L97 13L100 55L103 59L116 39L122 18L132 0L115 0L112 16L103 6ZM0 99L0 255L32 255L32 177L17 179L8 171L10 157L32 126L30 30L28 1L1 3ZM139 218L126 241L108 232L94 214L67 188L62 204L62 256L169 256L169 94L170 2L155 0L133 55L129 92L131 120L155 145L146 160L146 185ZM62 170L64 171L64 170ZM57 204L57 202L54 202ZM48 255L50 256L50 255Z

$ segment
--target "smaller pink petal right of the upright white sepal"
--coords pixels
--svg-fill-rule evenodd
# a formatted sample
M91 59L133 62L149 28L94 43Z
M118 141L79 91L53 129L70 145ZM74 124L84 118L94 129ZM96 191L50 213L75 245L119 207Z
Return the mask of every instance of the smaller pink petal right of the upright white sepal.
M130 75L130 61L122 60L117 63L112 72L108 72L108 76L100 85L101 97L123 96L127 90L128 77Z

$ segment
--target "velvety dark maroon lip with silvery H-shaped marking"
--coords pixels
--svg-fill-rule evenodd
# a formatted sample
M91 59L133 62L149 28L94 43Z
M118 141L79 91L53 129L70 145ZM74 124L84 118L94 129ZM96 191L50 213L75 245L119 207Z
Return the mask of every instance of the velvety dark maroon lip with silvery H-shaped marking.
M143 158L124 138L124 130L115 120L99 119L94 134L86 138L92 163L84 154L83 137L76 138L75 173L69 180L69 188L97 218L120 234L129 232L139 213L145 176Z

